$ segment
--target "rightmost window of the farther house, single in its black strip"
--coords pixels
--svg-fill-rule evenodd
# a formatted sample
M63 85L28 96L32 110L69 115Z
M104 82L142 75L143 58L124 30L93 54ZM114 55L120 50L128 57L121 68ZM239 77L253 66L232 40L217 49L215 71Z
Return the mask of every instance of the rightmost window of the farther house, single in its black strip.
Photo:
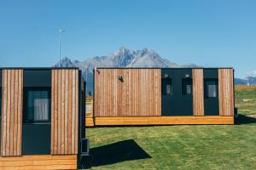
M218 98L218 79L205 79L205 97Z

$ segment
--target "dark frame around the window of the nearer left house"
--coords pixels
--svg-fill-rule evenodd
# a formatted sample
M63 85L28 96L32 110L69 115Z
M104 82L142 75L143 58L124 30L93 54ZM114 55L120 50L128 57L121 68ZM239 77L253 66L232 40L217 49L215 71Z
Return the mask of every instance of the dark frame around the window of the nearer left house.
M22 123L26 124L48 124L51 121L51 88L50 87L24 87L23 89L24 97L23 97L23 114L22 114ZM48 115L48 121L35 121L30 120L26 121L26 116L28 114L28 92L29 91L47 91L48 93L48 99L49 99L49 115Z

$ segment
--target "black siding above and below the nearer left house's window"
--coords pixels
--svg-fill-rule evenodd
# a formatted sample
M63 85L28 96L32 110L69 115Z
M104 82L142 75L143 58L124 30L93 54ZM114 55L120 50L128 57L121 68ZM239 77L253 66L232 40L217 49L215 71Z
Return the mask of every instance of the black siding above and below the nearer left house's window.
M24 88L45 87L51 87L51 70L24 70ZM49 98L51 99L51 96ZM51 102L49 103L49 105L50 104ZM26 101L23 101L23 105L26 105ZM51 110L49 107L49 122L25 123L24 120L22 121L23 156L50 154L50 111ZM23 112L23 114L26 113Z

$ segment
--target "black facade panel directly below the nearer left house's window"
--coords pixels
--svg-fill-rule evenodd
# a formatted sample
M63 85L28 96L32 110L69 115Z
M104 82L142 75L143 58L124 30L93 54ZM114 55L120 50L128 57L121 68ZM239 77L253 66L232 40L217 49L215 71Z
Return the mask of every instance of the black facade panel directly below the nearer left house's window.
M50 154L50 124L22 124L22 156Z

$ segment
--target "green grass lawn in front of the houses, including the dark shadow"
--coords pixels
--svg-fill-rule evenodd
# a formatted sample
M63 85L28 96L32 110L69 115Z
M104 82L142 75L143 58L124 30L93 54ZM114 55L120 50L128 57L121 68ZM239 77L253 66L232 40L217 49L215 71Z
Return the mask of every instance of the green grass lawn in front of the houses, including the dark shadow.
M236 125L87 128L92 169L256 169L256 118L239 113Z

